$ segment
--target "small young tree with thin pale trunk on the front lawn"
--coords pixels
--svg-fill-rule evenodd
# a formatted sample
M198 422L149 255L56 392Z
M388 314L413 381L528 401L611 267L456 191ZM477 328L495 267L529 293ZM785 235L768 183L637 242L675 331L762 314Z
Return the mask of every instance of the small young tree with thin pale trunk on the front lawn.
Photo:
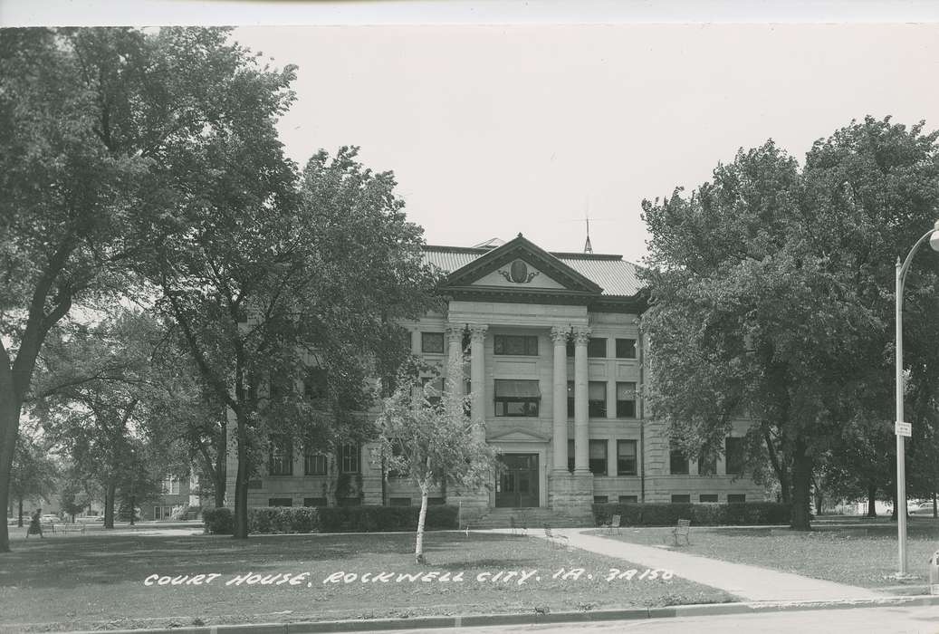
M452 365L448 377L460 376L460 369L460 364ZM432 381L422 383L421 370L416 360L403 366L398 387L383 400L377 419L378 456L389 472L408 477L421 489L414 545L418 564L424 563L423 526L430 489L445 483L483 487L496 459L495 449L485 441L482 421L467 414L469 398L460 397L449 380L439 394Z

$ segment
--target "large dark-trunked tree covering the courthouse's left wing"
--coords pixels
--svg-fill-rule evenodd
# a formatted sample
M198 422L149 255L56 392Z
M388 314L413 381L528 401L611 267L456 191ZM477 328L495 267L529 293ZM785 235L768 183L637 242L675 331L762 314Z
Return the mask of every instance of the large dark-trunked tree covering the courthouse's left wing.
M146 271L232 412L236 538L247 537L248 480L272 435L333 449L362 440L368 380L407 352L396 320L422 314L436 281L392 174L342 148L316 154L299 189L284 170L254 182L237 170L251 171L257 146L229 140L223 186L180 207L185 231L156 245ZM321 394L309 394L311 367L324 373Z

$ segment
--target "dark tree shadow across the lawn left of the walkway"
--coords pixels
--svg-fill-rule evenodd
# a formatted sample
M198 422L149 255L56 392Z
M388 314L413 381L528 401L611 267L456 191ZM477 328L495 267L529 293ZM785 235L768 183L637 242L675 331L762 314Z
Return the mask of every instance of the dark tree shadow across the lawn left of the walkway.
M154 573L227 574L249 567L257 573L283 572L285 567L359 564L388 556L400 557L403 564L413 558L414 540L415 533L314 533L244 541L210 535L45 538L20 542L0 554L0 589L136 583ZM500 534L425 533L424 551L435 567L446 569L525 564L523 559L471 559L472 551L511 552L516 544L507 548L509 541L512 537Z

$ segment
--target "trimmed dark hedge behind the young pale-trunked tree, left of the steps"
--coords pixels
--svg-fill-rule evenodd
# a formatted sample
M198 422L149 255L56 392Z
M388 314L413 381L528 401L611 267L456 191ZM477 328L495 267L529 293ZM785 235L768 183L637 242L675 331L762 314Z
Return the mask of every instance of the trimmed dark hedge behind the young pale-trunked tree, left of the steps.
M248 509L249 533L376 533L416 531L420 506L258 506ZM424 528L456 529L456 506L427 507ZM235 516L230 508L203 512L206 532L232 534Z

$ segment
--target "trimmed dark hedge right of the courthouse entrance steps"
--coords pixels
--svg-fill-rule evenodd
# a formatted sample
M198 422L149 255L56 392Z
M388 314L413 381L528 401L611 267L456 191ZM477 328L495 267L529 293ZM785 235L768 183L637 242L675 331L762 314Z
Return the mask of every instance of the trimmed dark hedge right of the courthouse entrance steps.
M622 526L674 526L679 519L697 526L788 524L790 513L789 504L777 502L593 504L597 526L614 515Z

